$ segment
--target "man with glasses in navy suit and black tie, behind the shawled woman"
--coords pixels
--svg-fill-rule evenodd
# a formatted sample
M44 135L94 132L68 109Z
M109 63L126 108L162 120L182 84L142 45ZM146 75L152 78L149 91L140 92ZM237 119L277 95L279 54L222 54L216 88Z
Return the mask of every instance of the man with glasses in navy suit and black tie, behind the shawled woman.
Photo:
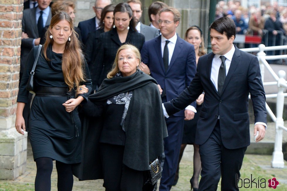
M146 41L141 50L140 67L150 74L162 87L162 102L176 98L191 82L196 73L193 45L176 34L180 13L173 7L159 12L161 36ZM196 112L196 104L188 106L166 119L169 136L164 139L164 166L159 190L170 190L174 181L182 141L184 116L189 118Z

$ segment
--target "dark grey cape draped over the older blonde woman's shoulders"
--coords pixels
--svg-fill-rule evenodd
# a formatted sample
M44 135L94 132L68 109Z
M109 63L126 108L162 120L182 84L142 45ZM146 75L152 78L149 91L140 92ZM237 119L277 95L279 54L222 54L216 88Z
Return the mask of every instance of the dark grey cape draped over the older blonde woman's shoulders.
M88 103L83 107L84 115L91 116L98 110L97 102L133 90L125 119L123 164L135 170L149 169L149 162L163 152L163 138L167 137L162 102L156 83L142 71L127 77L105 79L99 91L89 96ZM82 124L82 162L73 167L74 175L80 180L102 178L99 156L102 121L101 117L90 117Z

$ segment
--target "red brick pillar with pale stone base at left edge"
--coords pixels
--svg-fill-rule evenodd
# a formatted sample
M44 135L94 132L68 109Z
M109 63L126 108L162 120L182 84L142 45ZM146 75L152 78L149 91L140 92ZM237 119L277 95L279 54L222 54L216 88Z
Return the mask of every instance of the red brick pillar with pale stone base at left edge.
M15 129L23 0L0 0L0 179L26 170L27 133Z

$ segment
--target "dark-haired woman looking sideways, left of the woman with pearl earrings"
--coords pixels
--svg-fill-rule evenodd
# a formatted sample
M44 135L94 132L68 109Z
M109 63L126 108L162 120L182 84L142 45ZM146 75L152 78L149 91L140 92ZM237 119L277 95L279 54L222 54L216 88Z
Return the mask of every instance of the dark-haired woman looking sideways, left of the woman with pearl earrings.
M110 4L110 5L105 6L105 8L103 8L103 11L101 13L101 21L99 23L99 29L93 32L90 32L88 34L85 55L86 55L86 60L87 60L89 68L90 68L91 62L94 62L97 56L96 47L97 47L98 38L100 34L110 31L113 26L113 22L114 22L113 12L114 12L115 6L116 5Z

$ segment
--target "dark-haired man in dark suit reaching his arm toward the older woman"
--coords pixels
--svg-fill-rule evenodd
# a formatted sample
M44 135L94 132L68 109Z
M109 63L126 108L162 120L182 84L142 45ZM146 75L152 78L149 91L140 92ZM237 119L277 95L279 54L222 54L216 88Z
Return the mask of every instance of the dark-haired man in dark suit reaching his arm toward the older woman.
M257 57L232 43L236 28L227 17L210 28L211 53L198 60L193 81L176 99L164 103L166 117L183 109L203 92L203 106L197 123L195 143L201 157L198 190L239 190L237 178L244 153L250 144L248 96L251 95L256 142L266 128L265 93Z

